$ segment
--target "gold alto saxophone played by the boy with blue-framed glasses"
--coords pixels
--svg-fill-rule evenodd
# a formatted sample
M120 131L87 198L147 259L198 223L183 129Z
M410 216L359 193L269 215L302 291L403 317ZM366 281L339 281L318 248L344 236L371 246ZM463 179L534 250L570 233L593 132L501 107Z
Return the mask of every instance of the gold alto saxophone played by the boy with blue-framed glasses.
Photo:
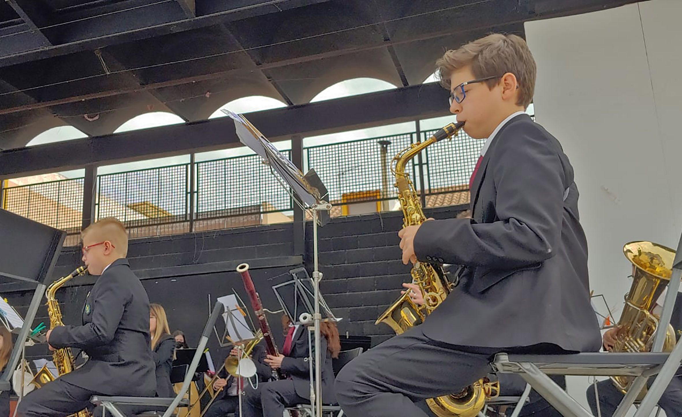
M396 176L395 186L398 188L398 201L402 207L403 227L421 225L426 221L419 195L417 195L405 170L407 162L426 147L442 139L451 138L457 134L462 126L464 126L464 122L451 123L436 132L427 141L413 143L410 147L403 149L391 161L391 171ZM392 166L394 162L395 167ZM447 294L456 285L456 283L447 280L447 274L441 265L418 261L413 265L410 274L412 282L419 286L424 295L424 304L421 306L415 304L409 296L409 291L406 291L379 316L374 324L385 323L391 326L396 334L401 334L422 323L426 316L445 300ZM473 417L483 409L486 399L497 395L499 395L499 383L490 383L487 378L484 378L464 388L462 392L427 399L426 403L431 411L439 417Z

